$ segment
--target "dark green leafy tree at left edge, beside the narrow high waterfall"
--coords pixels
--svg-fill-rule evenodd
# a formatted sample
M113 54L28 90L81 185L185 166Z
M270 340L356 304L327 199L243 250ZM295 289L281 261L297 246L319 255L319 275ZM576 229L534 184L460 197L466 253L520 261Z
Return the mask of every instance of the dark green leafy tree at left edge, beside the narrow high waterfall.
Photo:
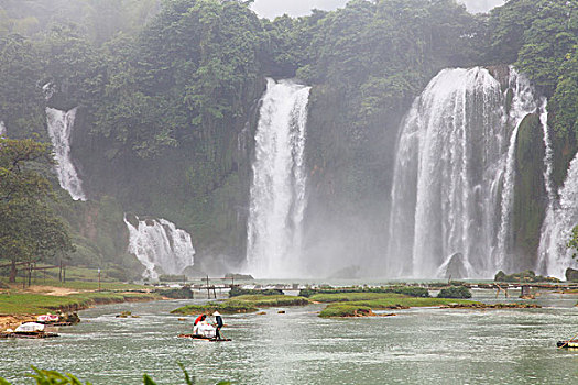
M12 264L74 251L68 231L48 206L52 187L39 167L53 163L50 146L33 140L0 139L0 255Z

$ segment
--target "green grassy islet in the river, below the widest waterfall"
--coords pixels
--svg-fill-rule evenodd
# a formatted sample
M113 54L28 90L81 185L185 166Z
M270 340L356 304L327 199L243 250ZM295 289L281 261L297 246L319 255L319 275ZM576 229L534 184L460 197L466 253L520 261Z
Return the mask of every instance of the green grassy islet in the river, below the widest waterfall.
M319 317L362 317L372 316L373 310L406 309L411 307L445 306L449 304L472 304L464 299L418 298L401 294L339 293L318 294L312 300L328 302Z

